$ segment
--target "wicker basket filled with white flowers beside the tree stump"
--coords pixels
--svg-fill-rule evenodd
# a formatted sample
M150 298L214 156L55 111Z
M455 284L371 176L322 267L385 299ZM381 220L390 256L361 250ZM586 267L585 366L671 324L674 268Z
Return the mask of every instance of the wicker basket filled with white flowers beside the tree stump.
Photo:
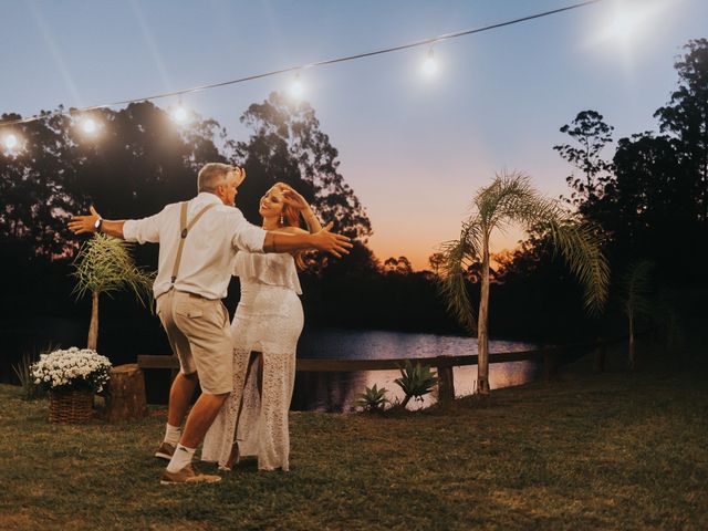
M58 350L32 365L34 383L49 391L49 421L82 424L93 416L93 395L101 393L111 362L91 348Z

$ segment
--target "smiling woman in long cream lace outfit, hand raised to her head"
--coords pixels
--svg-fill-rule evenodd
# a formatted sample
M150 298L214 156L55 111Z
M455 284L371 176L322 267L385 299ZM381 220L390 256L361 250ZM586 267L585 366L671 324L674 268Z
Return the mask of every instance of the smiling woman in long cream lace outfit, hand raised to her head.
M261 198L263 229L284 233L321 230L312 209L293 188L277 183ZM233 392L209 428L201 459L231 469L239 457L258 456L259 470L289 469L288 409L295 378L295 347L303 326L295 266L301 256L239 251L235 275L241 300L231 323ZM251 355L253 353L253 355ZM260 354L258 354L260 353Z

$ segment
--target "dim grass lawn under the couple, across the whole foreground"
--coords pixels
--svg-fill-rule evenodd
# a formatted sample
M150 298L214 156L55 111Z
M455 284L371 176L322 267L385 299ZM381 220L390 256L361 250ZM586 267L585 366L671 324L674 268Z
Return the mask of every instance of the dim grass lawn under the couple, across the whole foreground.
M289 473L246 461L189 487L158 483L164 408L55 426L3 385L0 529L708 529L706 383L562 376L412 414L292 413Z

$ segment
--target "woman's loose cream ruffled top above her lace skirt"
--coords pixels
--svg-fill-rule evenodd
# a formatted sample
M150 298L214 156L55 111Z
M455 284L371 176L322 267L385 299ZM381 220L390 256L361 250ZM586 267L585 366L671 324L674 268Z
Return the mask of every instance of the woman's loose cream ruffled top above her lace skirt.
M289 288L302 295L295 259L287 252L239 251L236 253L233 275L242 281Z

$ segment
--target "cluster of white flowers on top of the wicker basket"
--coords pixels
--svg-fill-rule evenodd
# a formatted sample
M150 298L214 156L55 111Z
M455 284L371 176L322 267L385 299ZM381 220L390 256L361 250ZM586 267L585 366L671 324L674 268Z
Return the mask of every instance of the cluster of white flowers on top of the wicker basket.
M101 393L108 382L111 362L91 348L59 350L42 354L31 367L34 383L48 391Z

